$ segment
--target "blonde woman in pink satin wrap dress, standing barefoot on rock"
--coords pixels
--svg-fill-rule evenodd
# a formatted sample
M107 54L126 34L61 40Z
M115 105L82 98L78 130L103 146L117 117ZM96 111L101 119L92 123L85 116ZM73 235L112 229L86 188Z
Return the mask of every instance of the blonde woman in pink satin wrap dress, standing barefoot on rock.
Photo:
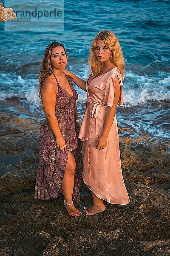
M84 207L87 215L105 210L103 200L128 204L122 176L116 107L123 105L125 61L116 35L99 32L89 56L91 74L86 81L66 72L82 90L87 91L86 110L79 138L83 142L83 181L91 189L93 204Z

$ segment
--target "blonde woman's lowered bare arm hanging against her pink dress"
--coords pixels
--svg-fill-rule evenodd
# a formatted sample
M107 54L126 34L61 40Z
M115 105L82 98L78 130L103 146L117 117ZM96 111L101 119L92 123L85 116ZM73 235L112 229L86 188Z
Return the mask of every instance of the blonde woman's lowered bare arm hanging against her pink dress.
M103 132L99 140L96 142L97 149L103 149L107 144L108 134L109 134L109 131L111 130L111 126L113 124L114 116L116 113L117 104L119 102L121 90L120 90L119 79L117 76L115 76L114 84L115 84L115 93L114 93L113 106L112 107L107 106L107 113L105 116Z

